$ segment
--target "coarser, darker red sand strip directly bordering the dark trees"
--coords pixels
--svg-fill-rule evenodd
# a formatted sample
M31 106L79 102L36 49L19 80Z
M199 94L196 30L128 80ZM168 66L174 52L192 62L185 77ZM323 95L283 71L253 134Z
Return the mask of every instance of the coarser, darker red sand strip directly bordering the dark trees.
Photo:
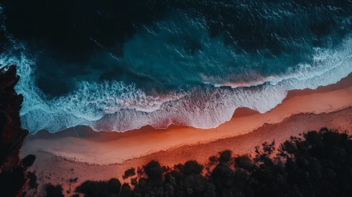
M292 115L291 117L286 117L282 122L262 125L262 127L255 129L253 132L241 136L220 139L208 144L181 146L168 151L159 151L140 158L132 158L120 164L92 165L74 162L42 150L36 152L37 159L29 170L37 172L40 185L48 182L51 184L63 184L64 191L70 188L69 179L74 179L75 177L78 177L78 182L71 184L71 189L87 180L99 181L118 178L122 182L130 182L130 179L123 179L123 172L131 167L135 167L135 169L142 167L150 160L158 160L161 165L169 167L173 167L178 163L185 163L188 160L197 160L198 163L207 165L210 156L217 155L224 150L232 151L234 156L249 155L253 157L255 146L260 146L265 141L274 140L276 144L281 144L289 139L290 136L298 136L303 132L319 130L322 127L341 131L348 130L351 134L352 107L320 115Z

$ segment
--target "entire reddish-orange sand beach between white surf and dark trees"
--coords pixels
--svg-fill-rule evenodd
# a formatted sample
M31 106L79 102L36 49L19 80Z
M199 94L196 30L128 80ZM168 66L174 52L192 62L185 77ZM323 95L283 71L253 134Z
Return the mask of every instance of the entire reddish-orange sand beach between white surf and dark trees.
M40 184L121 178L130 167L159 160L173 166L187 160L207 163L211 155L229 149L236 155L252 154L265 141L277 144L321 127L351 131L352 76L316 90L290 91L287 98L267 113L240 108L230 121L217 128L195 129L171 125L129 131L89 132L85 127L56 134L38 132L23 143L21 154L37 155ZM85 129L85 131L83 131ZM45 172L45 173L44 173ZM94 173L92 173L94 172ZM64 186L68 189L68 184Z

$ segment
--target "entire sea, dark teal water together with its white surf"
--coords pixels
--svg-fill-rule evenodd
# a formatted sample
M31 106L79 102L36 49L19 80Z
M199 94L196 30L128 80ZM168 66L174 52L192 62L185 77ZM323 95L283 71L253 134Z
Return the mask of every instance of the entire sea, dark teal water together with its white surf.
M0 61L31 132L207 128L346 77L351 31L351 1L11 0Z

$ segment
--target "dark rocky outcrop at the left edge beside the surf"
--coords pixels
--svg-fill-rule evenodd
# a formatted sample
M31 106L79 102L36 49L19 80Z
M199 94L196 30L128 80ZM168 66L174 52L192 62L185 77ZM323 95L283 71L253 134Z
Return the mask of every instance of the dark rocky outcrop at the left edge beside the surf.
M28 135L28 130L22 129L20 124L23 96L17 94L14 89L18 80L15 65L0 69L1 196L25 196L25 190L29 185L31 188L37 186L35 174L26 172L27 168L34 163L35 155L28 155L23 160L18 156L23 139Z

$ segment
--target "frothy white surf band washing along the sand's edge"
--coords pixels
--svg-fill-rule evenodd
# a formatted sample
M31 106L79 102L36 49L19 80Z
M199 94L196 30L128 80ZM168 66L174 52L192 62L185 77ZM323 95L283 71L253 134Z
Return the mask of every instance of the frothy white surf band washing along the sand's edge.
M338 82L352 72L351 46L348 37L337 49L316 49L312 65L301 64L291 75L268 77L256 87L195 87L189 94L167 96L147 96L133 84L122 82L82 82L78 91L50 100L35 86L35 61L24 53L18 58L2 54L0 63L18 65L16 91L24 96L20 116L23 127L31 132L56 132L77 125L125 132L144 125L166 127L172 122L210 128L230 120L236 108L265 113L281 103L291 89L316 89Z

